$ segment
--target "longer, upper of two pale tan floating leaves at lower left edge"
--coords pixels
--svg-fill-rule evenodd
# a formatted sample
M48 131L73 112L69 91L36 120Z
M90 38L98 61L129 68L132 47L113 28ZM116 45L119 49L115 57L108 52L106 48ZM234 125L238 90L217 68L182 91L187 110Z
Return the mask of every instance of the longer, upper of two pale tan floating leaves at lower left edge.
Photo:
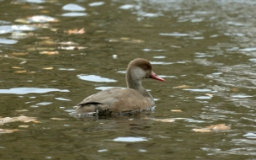
M41 123L40 121L36 120L35 117L28 117L25 115L21 115L19 117L4 117L0 118L0 125L3 125L5 123L15 122L15 121L23 121L25 123L27 122L34 122L34 123Z

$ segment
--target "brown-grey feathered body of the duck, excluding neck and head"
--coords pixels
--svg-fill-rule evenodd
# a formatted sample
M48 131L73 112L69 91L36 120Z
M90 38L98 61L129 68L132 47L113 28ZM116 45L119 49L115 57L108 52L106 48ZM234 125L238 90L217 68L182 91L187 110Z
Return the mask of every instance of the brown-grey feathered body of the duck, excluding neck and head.
M93 94L77 105L76 113L110 112L121 113L147 109L154 102L150 97L144 97L141 93L131 88L109 88Z

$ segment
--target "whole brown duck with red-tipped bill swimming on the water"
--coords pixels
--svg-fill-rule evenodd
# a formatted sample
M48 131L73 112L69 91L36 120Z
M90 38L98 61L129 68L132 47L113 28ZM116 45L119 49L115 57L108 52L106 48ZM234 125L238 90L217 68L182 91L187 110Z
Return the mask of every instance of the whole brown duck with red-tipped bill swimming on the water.
M152 71L152 65L146 59L136 58L130 61L125 73L127 88L108 88L90 95L75 106L75 114L111 115L151 109L155 102L151 93L141 86L144 78L165 81Z

